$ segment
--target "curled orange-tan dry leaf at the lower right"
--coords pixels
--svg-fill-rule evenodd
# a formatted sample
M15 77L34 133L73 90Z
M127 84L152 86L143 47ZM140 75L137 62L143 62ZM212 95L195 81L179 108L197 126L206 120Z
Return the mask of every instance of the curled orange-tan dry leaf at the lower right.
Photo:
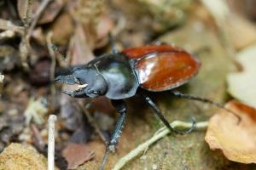
M219 110L212 116L205 137L212 150L220 149L231 161L256 163L256 110L235 100L225 105L241 116Z

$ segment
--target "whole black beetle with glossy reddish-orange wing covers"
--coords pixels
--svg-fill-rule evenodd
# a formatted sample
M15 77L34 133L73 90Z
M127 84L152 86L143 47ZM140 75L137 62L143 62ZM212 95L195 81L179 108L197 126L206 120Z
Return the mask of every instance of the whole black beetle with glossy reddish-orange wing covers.
M151 106L161 122L173 133L178 134L190 133L195 128L195 120L193 119L193 126L187 131L174 129L145 92L170 91L177 97L200 100L224 108L209 99L182 94L174 90L195 77L200 66L199 60L193 55L173 45L128 48L120 53L113 48L113 54L103 54L86 65L72 66L69 68L71 71L69 75L58 76L55 81L77 84L77 90L64 91L65 94L74 98L106 96L111 99L113 107L119 112L119 120L103 157L101 167L103 169L108 152L115 149L125 122L124 99L136 94L140 95Z

